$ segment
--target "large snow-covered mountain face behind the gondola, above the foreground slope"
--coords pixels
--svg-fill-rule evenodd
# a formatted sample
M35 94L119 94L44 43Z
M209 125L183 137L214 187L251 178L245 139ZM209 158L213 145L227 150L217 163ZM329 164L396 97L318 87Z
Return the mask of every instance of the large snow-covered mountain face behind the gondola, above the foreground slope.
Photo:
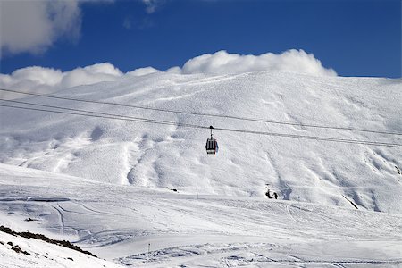
M314 77L263 71L238 75L157 72L63 89L58 96L197 113L402 132L401 80ZM28 96L26 102L102 113L402 144L401 136L322 130L162 113ZM401 148L215 131L219 155L205 154L209 130L0 107L0 162L90 180L180 193L264 197L402 213Z

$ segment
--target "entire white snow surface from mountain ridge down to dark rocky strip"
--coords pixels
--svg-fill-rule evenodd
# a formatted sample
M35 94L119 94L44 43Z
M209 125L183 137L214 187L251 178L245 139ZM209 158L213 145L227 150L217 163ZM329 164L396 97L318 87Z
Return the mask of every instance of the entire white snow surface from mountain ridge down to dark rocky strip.
M156 72L54 95L402 133L401 80ZM178 124L402 144L396 134L38 96L18 101ZM215 130L220 151L211 156L205 154L207 129L7 107L0 107L0 120L0 223L12 228L69 239L121 265L401 265L400 147ZM268 199L268 189L278 199ZM38 221L25 222L29 217Z

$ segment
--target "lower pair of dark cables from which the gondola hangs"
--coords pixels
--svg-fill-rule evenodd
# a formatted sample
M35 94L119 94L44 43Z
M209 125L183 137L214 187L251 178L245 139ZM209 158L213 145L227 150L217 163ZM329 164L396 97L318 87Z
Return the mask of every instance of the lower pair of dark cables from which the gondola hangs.
M33 104L31 104L31 105L33 105ZM54 111L54 110L46 110L46 109L39 109L39 108L32 108L32 107L21 107L21 106L13 106L13 105L3 105L3 104L0 104L0 106L16 108L16 109L24 109L24 110L30 110L30 111L63 113L63 114L105 118L105 119L120 120L120 121L137 121L137 122L172 125L172 126L176 126L176 127L186 127L186 128L193 128L193 129L209 129L209 127L205 127L205 126L201 126L201 125L176 123L176 122L172 122L172 121L156 121L156 120L152 120L152 119L130 118L128 116L116 115L113 113L96 114L96 112L88 113L88 111L85 111L85 110L80 110L80 113L72 113L72 112L67 112L67 111ZM57 109L63 109L63 108L57 107ZM73 110L73 109L71 109L71 110ZM287 134L287 133L265 132L265 131L254 131L254 130L237 130L237 129L227 129L227 128L214 128L214 130L256 134L256 135L266 135L266 136L281 137L281 138L314 139L314 140L318 140L318 141L331 141L331 142L339 142L339 143L347 143L347 144L361 144L361 145L372 145L372 146L381 146L381 147L397 147L397 148L402 147L402 144L385 143L385 142L377 142L377 141L369 141L369 140L347 139L347 138L328 138L328 137L319 137L319 136L294 135L294 134Z

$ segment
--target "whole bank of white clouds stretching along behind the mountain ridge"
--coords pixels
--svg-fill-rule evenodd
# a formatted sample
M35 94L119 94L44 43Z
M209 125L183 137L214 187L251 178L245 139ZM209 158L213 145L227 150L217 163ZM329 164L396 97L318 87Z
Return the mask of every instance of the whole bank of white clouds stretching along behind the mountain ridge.
M51 93L63 88L115 81L124 76L143 76L158 71L153 67L146 67L123 73L111 63L97 63L64 72L33 66L13 71L12 74L0 74L0 88ZM322 63L313 54L294 49L282 54L261 55L228 54L226 51L219 51L197 56L188 60L182 68L174 66L166 72L227 74L249 71L293 71L316 76L336 76L332 69L322 67ZM4 92L0 91L0 96L4 97Z

